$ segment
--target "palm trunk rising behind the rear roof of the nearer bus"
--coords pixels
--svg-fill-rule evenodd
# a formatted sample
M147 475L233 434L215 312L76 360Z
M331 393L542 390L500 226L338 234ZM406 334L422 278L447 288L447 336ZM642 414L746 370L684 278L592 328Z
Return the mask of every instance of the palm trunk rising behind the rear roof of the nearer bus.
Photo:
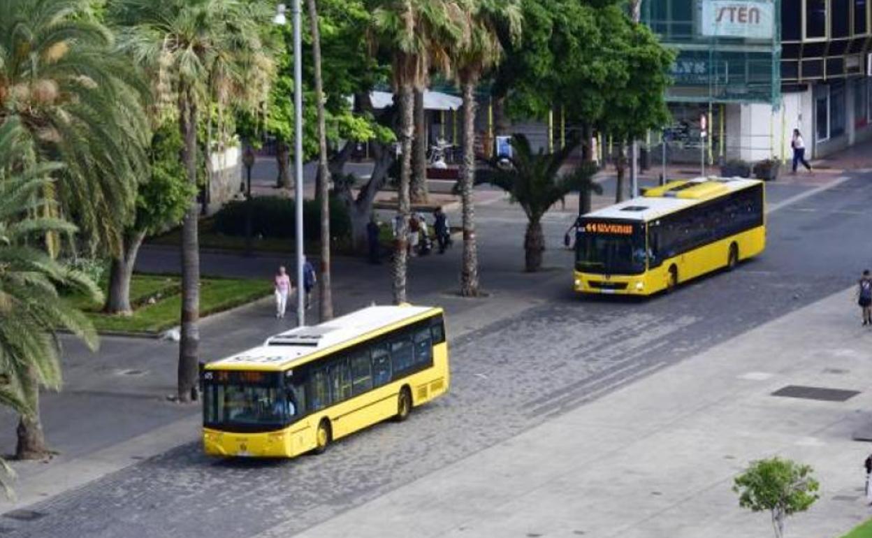
M414 127L414 97L412 96L411 85L401 85L399 87L399 111L400 111L400 129L399 143L400 155L399 161L399 230L397 238L394 242L393 253L393 302L395 304L406 302L406 270L407 268L407 252L406 244L408 242L409 229L409 183L412 179L412 129Z

